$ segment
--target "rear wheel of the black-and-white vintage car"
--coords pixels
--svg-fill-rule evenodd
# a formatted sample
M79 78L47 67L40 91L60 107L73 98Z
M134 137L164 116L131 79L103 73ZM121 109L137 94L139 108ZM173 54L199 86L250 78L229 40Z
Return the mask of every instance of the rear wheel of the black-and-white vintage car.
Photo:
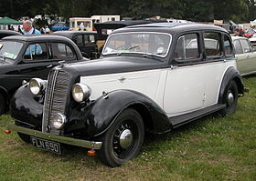
M220 111L222 116L226 116L235 112L238 105L238 86L235 81L229 82L229 87L224 95L226 107Z

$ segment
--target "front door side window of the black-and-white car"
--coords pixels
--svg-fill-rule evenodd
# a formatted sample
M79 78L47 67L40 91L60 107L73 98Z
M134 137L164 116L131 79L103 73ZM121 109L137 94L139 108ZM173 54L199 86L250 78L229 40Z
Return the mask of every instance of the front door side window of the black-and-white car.
M179 61L191 61L199 57L197 34L182 35L176 42L175 58Z

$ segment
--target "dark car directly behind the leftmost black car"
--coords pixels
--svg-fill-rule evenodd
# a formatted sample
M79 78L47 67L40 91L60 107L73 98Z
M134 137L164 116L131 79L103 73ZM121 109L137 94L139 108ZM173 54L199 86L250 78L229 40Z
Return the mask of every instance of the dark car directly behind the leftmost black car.
M86 58L96 58L97 32L93 31L57 31L53 35L63 35L79 46L81 54Z

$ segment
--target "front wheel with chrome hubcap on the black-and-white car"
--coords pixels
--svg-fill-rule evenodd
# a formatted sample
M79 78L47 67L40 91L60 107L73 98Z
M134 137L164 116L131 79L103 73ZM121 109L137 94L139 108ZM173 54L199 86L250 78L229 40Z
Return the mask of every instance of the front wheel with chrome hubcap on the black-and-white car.
M107 166L121 166L137 156L144 142L144 122L139 113L125 109L101 136L98 157Z

